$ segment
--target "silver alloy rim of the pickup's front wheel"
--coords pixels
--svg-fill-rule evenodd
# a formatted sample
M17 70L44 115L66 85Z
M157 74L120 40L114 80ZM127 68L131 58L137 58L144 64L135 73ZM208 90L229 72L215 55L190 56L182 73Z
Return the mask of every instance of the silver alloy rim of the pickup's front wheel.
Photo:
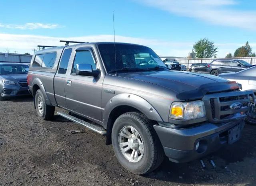
M140 133L132 126L125 126L119 133L119 146L129 162L138 162L144 154L144 144Z

